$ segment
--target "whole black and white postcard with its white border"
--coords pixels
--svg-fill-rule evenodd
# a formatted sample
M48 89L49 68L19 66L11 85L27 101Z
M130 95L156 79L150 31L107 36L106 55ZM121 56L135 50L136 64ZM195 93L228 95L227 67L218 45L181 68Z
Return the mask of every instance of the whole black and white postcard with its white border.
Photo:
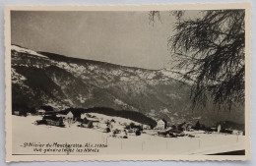
M10 7L9 161L248 159L249 6Z

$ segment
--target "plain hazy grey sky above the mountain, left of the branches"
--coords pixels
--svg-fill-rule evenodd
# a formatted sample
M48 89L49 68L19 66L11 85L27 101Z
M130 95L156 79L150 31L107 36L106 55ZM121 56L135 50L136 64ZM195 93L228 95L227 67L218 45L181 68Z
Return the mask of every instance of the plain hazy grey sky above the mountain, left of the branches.
M147 69L167 68L167 39L175 22L161 12L150 24L149 12L11 13L12 43L35 51Z

